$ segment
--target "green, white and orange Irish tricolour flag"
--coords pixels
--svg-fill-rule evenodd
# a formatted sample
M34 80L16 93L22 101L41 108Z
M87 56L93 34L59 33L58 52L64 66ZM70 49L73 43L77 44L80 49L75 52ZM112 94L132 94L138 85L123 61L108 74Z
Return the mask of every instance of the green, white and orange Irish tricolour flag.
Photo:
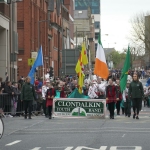
M102 43L100 40L100 35L99 35L98 44L97 44L94 74L103 79L107 79L109 75L109 70L108 70L107 63L106 63L104 49L102 47Z

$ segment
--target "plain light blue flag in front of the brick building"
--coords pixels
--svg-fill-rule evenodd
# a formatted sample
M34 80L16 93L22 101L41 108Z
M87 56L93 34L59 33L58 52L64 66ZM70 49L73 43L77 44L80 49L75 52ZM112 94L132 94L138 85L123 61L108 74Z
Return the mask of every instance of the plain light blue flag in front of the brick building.
M40 47L39 51L38 51L38 55L37 58L28 74L28 76L31 78L31 84L34 84L34 74L36 71L36 68L39 66L43 66L43 52L42 52L42 46Z

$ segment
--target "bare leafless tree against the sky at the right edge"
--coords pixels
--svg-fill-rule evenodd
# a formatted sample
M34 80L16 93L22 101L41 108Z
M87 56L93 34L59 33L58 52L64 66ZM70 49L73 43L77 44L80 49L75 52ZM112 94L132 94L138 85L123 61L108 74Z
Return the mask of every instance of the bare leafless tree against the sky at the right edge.
M131 45L135 47L138 55L150 55L150 12L139 13L130 19Z

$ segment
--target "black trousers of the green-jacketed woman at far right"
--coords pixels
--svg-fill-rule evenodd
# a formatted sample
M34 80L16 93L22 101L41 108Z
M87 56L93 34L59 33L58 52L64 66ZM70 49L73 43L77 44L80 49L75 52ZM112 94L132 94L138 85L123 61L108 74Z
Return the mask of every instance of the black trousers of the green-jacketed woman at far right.
M133 112L134 114L139 114L139 111L141 109L141 105L142 105L142 100L141 98L134 98L132 99L132 104L133 104Z

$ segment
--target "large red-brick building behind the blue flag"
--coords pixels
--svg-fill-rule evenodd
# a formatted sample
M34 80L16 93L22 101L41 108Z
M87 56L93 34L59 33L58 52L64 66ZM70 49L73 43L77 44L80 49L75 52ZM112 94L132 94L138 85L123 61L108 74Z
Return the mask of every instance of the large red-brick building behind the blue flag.
M28 75L31 68L28 59L38 51L40 45L43 49L44 72L52 66L54 75L58 76L61 68L62 17L61 12L58 14L56 10L56 0L54 11L48 11L47 0L24 0L17 6L18 76ZM38 72L42 76L42 69Z

